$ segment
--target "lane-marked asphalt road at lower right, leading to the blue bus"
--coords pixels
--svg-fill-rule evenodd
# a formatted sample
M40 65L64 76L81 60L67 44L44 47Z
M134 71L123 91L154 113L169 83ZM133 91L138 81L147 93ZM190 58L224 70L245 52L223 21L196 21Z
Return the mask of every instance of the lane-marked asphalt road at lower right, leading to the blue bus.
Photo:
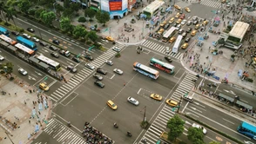
M236 117L232 113L227 113L221 108L212 107L212 104L210 105L207 102L205 103L204 98L202 98L201 95L193 93L190 95L193 96L194 101L183 101L183 106L181 108L183 113L190 115L192 118L204 122L205 124L211 126L212 128L216 128L225 134L229 134L239 141L250 140L250 138L247 138L245 135L237 132L237 127L241 122L239 117ZM219 141L214 137L212 139Z

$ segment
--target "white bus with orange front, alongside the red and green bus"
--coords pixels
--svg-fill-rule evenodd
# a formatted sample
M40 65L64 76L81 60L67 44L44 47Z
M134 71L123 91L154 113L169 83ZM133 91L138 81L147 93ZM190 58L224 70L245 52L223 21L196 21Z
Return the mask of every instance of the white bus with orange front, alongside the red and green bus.
M158 79L158 76L159 76L158 70L151 69L138 62L133 63L133 70L138 71L140 74L151 77L154 80Z

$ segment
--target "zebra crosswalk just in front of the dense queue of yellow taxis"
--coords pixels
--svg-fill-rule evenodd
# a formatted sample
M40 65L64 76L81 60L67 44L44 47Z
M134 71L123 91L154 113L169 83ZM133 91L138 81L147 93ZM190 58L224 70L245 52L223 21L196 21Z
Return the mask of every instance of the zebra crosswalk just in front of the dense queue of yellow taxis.
M165 45L154 43L150 40L145 40L145 42L141 43L141 45L165 54ZM182 53L180 52L178 52L177 54L171 52L168 55L177 59L181 59L182 57Z

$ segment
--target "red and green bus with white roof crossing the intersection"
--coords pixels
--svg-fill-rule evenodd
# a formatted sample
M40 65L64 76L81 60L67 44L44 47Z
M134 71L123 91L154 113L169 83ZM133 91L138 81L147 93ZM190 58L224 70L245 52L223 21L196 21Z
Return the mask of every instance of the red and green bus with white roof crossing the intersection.
M167 74L173 74L174 69L175 69L175 67L173 65L166 63L166 62L162 62L156 58L152 58L150 60L150 65L157 69L161 69L161 70L165 71L165 73L167 73Z

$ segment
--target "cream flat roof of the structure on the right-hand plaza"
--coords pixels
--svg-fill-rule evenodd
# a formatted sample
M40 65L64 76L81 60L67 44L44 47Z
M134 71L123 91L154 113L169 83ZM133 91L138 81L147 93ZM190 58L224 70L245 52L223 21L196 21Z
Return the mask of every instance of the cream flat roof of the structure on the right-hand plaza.
M248 23L237 22L234 24L234 26L232 27L232 30L229 32L229 36L234 36L242 39L245 36L248 28L249 28Z

